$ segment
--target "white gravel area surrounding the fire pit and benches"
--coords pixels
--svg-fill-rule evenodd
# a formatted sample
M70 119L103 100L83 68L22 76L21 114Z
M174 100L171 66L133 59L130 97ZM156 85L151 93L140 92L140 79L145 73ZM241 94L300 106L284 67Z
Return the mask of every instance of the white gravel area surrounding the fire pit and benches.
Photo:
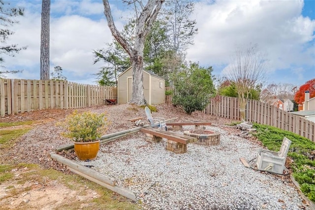
M185 130L193 129L185 126ZM92 169L110 175L135 193L143 209L154 210L300 210L297 189L280 176L246 168L258 145L221 132L219 146L189 144L185 154L167 151L166 140L149 143L145 135L101 146Z

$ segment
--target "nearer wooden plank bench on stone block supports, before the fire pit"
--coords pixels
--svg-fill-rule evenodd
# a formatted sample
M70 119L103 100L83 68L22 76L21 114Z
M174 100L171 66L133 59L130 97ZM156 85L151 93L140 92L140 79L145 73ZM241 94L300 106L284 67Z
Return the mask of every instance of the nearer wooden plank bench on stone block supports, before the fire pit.
M183 136L154 128L142 128L141 131L146 133L147 140L152 143L157 143L161 141L162 138L165 138L167 143L166 149L176 154L187 152L187 144L197 141L194 137Z

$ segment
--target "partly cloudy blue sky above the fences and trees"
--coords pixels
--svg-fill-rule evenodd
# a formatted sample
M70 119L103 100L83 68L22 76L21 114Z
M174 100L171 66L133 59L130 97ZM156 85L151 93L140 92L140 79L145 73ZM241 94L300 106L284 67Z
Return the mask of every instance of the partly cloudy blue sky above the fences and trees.
M25 8L10 29L7 44L27 46L15 57L4 57L7 78L39 79L41 0L6 0ZM121 0L109 1L118 29L132 9ZM187 50L187 60L212 66L218 77L231 61L236 46L257 44L269 63L265 85L300 86L315 78L315 0L195 0L191 19L198 34ZM96 84L93 50L112 41L102 0L51 0L50 72L61 66L67 80Z

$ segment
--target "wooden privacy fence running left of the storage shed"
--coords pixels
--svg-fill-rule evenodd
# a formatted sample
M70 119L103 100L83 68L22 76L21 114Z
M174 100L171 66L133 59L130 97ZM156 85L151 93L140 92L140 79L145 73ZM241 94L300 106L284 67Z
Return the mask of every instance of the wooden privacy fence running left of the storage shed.
M0 79L0 115L47 108L84 108L117 99L116 87L55 80Z

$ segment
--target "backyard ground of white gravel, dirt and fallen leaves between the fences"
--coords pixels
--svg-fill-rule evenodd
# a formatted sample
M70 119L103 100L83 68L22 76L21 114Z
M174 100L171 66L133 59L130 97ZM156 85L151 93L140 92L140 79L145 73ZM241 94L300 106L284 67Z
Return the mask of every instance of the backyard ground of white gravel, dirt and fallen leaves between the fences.
M198 111L187 115L172 105L157 108L152 113L156 117L212 122L206 128L221 133L220 145L189 144L187 153L174 154L165 150L165 140L149 143L138 132L101 145L94 161L80 162L73 152L62 154L117 178L120 186L135 193L136 203L71 175L49 157L49 152L71 142L61 136L63 130L56 122L73 110L48 109L0 118L2 124L32 121L0 128L28 129L22 137L0 145L1 165L7 167L1 175L11 174L5 181L0 179L0 209L310 209L287 176L242 165L240 157L254 158L262 144L254 137L240 137L240 130L227 126L231 120ZM146 118L144 109L134 105L79 109L84 110L107 113L106 134L134 128L128 119Z

